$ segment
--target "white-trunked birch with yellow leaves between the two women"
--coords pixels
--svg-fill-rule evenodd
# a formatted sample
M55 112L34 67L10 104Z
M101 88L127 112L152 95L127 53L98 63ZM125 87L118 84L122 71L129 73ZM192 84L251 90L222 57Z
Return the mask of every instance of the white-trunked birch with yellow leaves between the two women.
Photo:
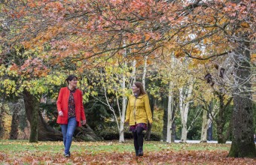
M94 98L104 104L111 110L114 116L114 121L117 124L120 142L124 142L124 117L126 111L126 97L129 95L127 85L130 85L130 73L127 62L123 61L122 57L116 60L108 60L112 65L102 66L99 70L93 71L95 80L93 82L94 88L99 89ZM100 95L103 97L101 98Z

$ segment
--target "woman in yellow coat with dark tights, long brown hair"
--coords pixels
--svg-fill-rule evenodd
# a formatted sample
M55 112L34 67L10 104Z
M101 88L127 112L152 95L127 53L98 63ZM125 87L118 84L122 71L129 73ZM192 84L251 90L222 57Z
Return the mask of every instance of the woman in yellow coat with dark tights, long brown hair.
M125 122L129 122L130 131L133 132L133 142L136 156L143 156L142 131L148 129L148 122L152 124L152 113L148 95L142 83L133 84L133 95L130 95L126 109Z

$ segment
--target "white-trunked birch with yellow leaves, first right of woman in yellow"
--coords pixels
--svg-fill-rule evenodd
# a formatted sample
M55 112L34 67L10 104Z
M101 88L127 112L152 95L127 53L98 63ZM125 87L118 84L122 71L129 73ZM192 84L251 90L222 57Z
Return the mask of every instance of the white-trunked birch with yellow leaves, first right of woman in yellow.
M172 130L173 121L174 121L174 101L173 101L173 88L172 85L174 83L173 79L175 79L173 75L174 65L166 65L166 62L158 58L156 62L151 65L151 76L149 76L149 80L151 84L148 86L148 91L152 95L151 99L151 109L153 109L154 104L156 106L163 108L163 140L166 142L174 142L175 130ZM154 103L153 98L157 98L158 103ZM156 101L157 102L157 101ZM162 105L160 105L162 104ZM171 138L172 137L172 138Z

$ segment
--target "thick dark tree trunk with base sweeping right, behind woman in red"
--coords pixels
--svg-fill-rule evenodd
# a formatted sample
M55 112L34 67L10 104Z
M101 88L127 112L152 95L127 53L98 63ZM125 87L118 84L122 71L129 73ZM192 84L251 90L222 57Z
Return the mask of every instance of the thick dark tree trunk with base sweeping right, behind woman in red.
M23 92L26 117L31 125L29 142L62 140L62 133L50 127L39 111L39 101L28 91Z

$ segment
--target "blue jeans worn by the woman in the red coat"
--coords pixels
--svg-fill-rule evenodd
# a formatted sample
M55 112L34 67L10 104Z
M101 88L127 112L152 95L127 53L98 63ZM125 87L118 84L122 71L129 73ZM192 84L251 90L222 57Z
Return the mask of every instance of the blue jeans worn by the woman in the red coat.
M77 126L77 121L75 117L69 118L68 124L60 124L62 134L63 134L65 154L70 154L69 149L72 143L72 136L74 134L76 126Z

